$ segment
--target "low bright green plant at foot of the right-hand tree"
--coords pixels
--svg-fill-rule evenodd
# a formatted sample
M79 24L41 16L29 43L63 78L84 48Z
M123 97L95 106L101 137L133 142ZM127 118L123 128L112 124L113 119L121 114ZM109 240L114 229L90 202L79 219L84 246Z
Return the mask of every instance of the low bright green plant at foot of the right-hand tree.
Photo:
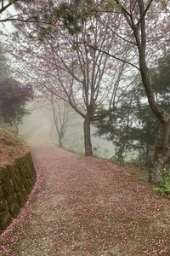
M158 191L162 196L170 195L170 165L167 166L167 172L164 177L161 177L156 184L156 191Z

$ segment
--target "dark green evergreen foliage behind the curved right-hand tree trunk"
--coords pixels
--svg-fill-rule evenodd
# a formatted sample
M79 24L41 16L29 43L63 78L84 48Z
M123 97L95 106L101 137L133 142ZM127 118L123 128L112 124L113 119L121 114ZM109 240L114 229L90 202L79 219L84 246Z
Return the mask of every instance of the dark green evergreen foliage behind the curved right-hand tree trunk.
M156 101L167 113L170 113L169 70L170 52L158 59L155 68L150 69ZM113 113L94 125L97 127L95 135L106 135L113 142L116 159L123 159L130 151L137 151L139 159L132 161L139 166L150 158L156 133L161 127L146 101L141 81L134 84L134 88L125 92Z

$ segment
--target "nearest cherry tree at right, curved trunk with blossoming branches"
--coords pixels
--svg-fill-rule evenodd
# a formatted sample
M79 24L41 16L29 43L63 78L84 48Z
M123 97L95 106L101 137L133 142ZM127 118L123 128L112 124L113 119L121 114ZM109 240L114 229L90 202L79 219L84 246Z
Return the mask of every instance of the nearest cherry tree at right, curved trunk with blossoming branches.
M170 158L170 114L161 108L159 102L156 102L149 72L149 67L153 65L158 55L169 49L168 9L168 3L161 0L96 1L94 6L89 9L89 13L94 15L97 20L100 20L99 15L103 15L103 13L111 14L113 19L115 19L115 15L120 17L119 30L115 31L114 25L109 26L111 32L121 40L122 45L133 45L133 50L136 52L135 58L125 61L123 56L117 56L117 51L114 48L112 48L112 52L102 51L97 45L88 44L88 46L91 45L92 49L99 50L117 61L126 62L131 67L136 68L141 75L150 109L161 126L156 135L153 155L150 158L149 180L152 183L156 183L162 177L164 166ZM87 15L83 9L82 15ZM103 20L102 24L104 24ZM70 25L67 23L67 29ZM105 26L108 27L106 22Z

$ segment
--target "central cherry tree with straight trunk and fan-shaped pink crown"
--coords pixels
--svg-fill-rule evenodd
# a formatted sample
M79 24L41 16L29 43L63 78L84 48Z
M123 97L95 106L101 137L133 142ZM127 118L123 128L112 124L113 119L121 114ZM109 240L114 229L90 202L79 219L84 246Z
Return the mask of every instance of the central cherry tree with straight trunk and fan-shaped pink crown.
M15 54L26 65L30 65L34 72L45 72L48 78L56 80L55 84L59 83L65 101L84 119L87 156L93 154L91 122L114 111L116 100L121 96L117 92L122 81L127 87L131 84L131 81L125 82L126 61L117 64L103 52L109 51L111 45L115 44L117 56L123 53L124 60L127 59L127 45L121 46L119 38L108 28L114 21L111 15L104 15L103 20L106 20L107 26L99 23L99 20L91 19L84 23L82 32L72 35L62 30L58 20L50 29L42 24L29 27L25 35L31 32L32 44L28 43L26 46L26 41L22 38L24 42L22 45L20 43L20 52ZM119 20L116 20L116 24L117 22ZM92 49L88 44L98 46L101 51ZM29 61L27 55L30 55ZM132 58L133 54L130 55ZM113 68L114 73L111 72ZM104 105L105 113L101 114L98 110Z

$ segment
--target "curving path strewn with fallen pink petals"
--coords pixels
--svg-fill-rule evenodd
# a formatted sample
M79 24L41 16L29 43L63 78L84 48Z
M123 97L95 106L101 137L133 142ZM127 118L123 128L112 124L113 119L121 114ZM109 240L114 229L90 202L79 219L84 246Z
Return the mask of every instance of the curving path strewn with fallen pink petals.
M134 167L54 146L32 154L41 177L1 236L1 255L170 255L170 201Z

